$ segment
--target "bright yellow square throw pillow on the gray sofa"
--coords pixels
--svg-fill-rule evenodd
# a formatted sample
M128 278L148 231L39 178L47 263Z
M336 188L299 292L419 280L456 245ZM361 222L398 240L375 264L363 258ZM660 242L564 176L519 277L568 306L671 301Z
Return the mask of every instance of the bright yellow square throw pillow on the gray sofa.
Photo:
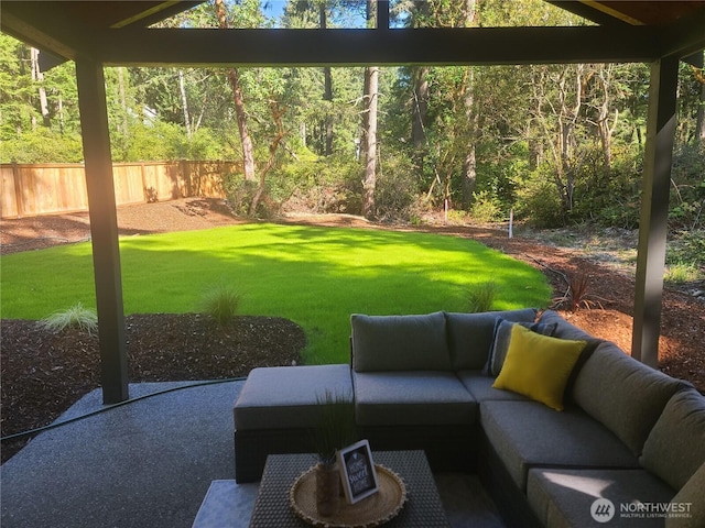
M587 341L571 341L514 324L505 365L492 387L505 388L563 410L563 393Z

